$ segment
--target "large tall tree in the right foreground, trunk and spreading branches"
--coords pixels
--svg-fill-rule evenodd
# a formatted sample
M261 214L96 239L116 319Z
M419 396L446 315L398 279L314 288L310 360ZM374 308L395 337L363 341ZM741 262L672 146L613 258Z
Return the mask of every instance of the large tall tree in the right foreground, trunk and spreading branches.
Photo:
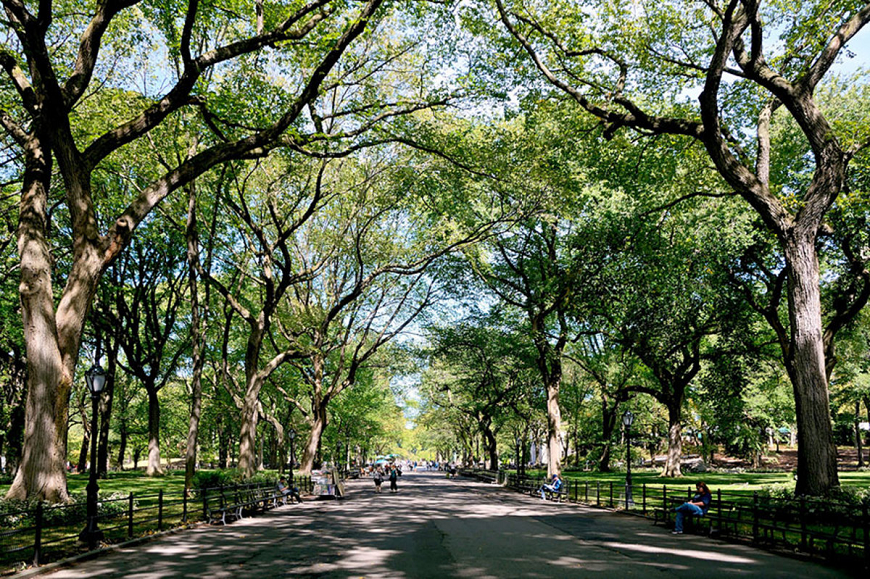
M845 251L857 291L823 322L817 247L832 225L825 217L849 164L867 142L838 130L815 91L870 21L870 5L806 2L795 12L761 0L711 0L689 10L670 2L495 4L504 29L543 78L599 118L607 134L627 127L694 139L775 236L789 311L782 358L798 410L796 492L818 495L837 486L828 401L833 343L866 303L870 275L866 255ZM693 105L687 95L695 90ZM797 153L808 175L797 190L771 181L771 159L790 154L771 138L776 115L788 116L808 143L808 156Z

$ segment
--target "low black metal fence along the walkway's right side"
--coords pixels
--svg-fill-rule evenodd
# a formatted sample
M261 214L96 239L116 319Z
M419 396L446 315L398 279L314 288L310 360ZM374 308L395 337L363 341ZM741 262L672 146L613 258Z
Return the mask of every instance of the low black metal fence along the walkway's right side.
M536 496L543 478L503 471L463 470L465 476L503 484ZM619 509L670 525L674 509L691 499L693 487L624 485L600 481L564 481L564 498L588 506ZM830 560L851 560L870 568L870 501L848 504L823 499L769 496L757 491L713 493L695 527L711 535L751 540L760 546L786 548Z

